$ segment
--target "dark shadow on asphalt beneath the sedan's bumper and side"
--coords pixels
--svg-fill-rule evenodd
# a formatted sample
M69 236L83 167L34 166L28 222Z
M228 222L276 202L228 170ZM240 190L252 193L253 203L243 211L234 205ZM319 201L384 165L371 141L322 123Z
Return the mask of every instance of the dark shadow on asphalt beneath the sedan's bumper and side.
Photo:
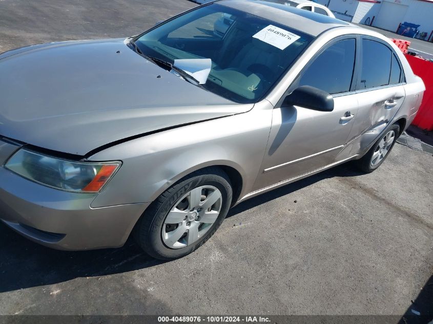
M227 217L326 178L358 175L350 166L341 165L245 201L232 208ZM131 238L119 249L58 251L25 239L3 223L0 223L0 255L0 292L57 284L76 277L129 272L163 263L143 253Z

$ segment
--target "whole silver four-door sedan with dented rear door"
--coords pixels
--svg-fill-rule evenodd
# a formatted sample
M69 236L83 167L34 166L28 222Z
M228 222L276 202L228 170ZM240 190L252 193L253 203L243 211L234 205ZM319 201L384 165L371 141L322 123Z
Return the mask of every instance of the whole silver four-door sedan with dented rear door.
M0 54L0 219L53 248L134 235L181 257L239 202L350 160L374 171L424 90L384 36L260 1L12 50Z

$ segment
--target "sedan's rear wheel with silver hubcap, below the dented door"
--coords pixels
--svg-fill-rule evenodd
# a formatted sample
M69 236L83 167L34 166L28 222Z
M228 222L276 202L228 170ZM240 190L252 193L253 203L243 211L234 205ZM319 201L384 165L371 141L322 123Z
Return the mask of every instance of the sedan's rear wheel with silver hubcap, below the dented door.
M368 152L359 160L354 161L362 171L371 173L385 161L389 152L394 147L400 132L400 126L394 124L376 141ZM383 146L381 146L383 145ZM386 152L384 152L386 149Z

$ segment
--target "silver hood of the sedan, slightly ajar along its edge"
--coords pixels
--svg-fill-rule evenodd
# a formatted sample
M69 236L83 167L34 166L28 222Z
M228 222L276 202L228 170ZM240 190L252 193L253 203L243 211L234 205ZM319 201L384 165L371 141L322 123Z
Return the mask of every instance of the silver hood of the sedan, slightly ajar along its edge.
M252 106L184 81L123 39L51 43L0 55L0 135L58 152L86 155L117 140Z

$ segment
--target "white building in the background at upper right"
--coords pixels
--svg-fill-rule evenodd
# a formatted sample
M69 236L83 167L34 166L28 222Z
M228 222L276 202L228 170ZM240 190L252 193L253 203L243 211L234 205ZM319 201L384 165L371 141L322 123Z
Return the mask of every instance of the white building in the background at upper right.
M433 31L433 0L316 0L339 19L396 32L399 25L420 25L427 40ZM433 35L430 37L430 41Z

